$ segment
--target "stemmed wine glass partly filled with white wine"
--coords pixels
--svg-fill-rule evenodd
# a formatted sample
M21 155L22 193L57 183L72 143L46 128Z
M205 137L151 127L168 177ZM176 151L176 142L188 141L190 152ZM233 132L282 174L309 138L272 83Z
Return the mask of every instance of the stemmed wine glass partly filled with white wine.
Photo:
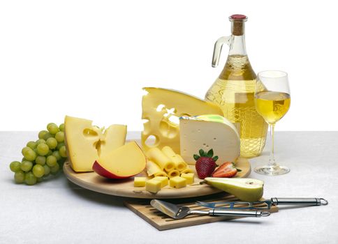
M278 70L258 73L255 91L255 106L258 114L270 125L271 151L267 165L254 169L256 173L275 176L286 174L288 167L280 166L274 161L274 125L288 112L290 107L290 87L288 74Z

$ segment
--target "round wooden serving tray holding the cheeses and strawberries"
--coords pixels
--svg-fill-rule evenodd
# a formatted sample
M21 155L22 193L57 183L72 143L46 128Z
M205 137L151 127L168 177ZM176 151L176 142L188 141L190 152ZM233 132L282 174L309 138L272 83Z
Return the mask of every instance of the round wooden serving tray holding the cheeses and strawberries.
M200 197L221 192L221 190L212 188L209 185L200 185L199 182L202 180L197 177L195 166L190 165L189 167L191 167L191 169L195 171L195 183L193 183L193 185L187 185L185 188L180 189L170 188L167 185L156 194L147 192L145 188L135 188L133 186L133 178L112 180L99 176L95 172L76 173L71 168L69 162L64 163L64 174L66 175L68 180L72 181L76 185L80 185L82 188L119 197L166 199ZM244 178L249 176L251 172L251 167L247 159L239 158L236 162L236 167L242 169L242 171L237 173L237 178ZM145 171L138 174L138 176L146 176Z

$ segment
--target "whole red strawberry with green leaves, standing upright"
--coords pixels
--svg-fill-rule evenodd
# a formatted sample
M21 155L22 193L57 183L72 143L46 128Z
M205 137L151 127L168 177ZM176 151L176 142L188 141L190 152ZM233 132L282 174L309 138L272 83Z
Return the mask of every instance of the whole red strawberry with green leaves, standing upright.
M211 176L212 172L216 168L216 160L218 156L214 156L214 151L210 149L208 152L200 149L200 155L194 154L193 158L196 160L196 171L198 178L205 178ZM214 156L214 157L213 157Z

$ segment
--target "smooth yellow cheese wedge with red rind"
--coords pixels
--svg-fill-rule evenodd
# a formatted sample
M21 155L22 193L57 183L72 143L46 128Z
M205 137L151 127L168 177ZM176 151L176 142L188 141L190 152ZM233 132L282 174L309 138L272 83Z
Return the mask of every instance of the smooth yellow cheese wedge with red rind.
M129 178L145 169L147 159L136 142L105 153L94 162L93 170L106 178Z

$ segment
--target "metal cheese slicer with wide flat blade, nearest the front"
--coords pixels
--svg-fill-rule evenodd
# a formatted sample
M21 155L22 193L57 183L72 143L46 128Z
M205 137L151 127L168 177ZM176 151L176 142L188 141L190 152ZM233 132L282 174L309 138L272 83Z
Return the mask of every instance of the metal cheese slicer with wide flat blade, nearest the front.
M209 211L192 210L187 206L178 206L166 201L153 199L150 205L158 211L168 215L173 219L182 219L189 214L210 215L210 216L237 216L237 217L267 217L270 215L267 211L231 211L223 209L210 209Z

